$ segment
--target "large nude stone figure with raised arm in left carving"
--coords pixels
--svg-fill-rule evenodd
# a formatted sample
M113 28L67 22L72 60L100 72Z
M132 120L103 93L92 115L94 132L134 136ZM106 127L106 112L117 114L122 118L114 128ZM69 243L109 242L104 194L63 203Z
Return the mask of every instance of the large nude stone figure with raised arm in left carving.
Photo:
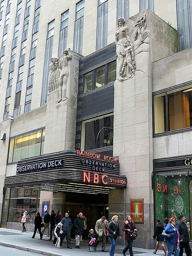
M59 92L59 103L61 100L65 101L68 98L66 97L67 92L67 81L69 76L68 62L72 59L72 53L70 48L67 50L63 50L63 56L59 60L59 68L60 68L60 76L59 76L59 84L58 84L58 92Z

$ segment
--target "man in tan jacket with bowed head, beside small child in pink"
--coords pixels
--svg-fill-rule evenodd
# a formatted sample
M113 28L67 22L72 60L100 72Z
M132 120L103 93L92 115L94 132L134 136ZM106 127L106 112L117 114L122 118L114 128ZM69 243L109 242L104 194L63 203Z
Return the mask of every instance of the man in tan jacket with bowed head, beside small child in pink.
M95 250L98 244L102 241L101 251L105 251L106 247L106 217L102 216L101 219L96 221L95 231L97 234L97 240L95 242Z

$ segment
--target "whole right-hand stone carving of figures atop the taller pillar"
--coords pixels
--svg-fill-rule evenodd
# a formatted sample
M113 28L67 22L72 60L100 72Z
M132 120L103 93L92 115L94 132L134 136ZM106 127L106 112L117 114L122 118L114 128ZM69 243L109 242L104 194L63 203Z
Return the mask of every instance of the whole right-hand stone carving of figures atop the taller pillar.
M116 52L117 52L117 79L129 79L137 71L135 56L140 52L149 51L149 32L146 28L146 14L139 18L132 16L131 20L135 22L133 28L129 31L125 26L125 19L118 19L118 29L115 33Z

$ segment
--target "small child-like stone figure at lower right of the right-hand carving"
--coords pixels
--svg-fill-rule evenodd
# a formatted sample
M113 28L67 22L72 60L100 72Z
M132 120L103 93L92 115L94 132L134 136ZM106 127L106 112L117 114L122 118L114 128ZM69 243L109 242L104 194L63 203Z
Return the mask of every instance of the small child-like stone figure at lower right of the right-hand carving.
M121 54L124 56L124 61L123 61L123 67L120 72L120 75L123 76L124 70L126 67L129 67L129 71L126 74L126 77L132 77L132 75L135 73L136 66L135 66L135 59L134 59L134 47L131 41L127 40L124 44L124 52Z

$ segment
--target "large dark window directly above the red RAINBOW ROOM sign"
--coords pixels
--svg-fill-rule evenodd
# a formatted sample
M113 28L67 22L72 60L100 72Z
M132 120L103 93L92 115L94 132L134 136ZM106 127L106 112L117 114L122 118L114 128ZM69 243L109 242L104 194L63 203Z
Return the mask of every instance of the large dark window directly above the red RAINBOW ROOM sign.
M82 122L83 150L113 145L113 115Z

